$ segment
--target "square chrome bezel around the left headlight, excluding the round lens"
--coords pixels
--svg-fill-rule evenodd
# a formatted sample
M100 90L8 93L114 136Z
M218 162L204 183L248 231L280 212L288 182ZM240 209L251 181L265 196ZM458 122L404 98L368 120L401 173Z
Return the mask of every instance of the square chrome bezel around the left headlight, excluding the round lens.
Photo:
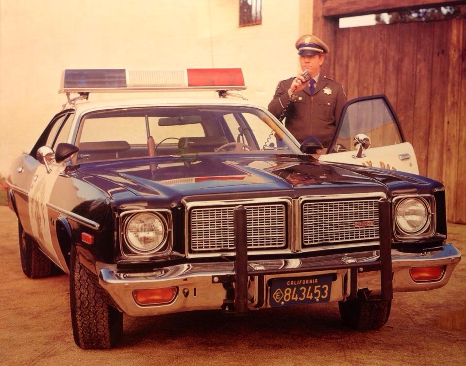
M157 216L165 227L165 236L162 244L150 251L135 249L126 237L126 228L130 220L139 214L152 214ZM171 211L168 209L142 209L124 211L119 215L119 241L120 254L125 259L144 259L154 256L162 256L170 253L173 247L173 221Z

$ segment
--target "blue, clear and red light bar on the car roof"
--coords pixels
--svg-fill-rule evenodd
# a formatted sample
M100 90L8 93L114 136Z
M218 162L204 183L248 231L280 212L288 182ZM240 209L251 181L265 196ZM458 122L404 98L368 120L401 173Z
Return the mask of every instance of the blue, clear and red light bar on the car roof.
M71 69L60 93L169 90L244 90L240 68L184 70Z

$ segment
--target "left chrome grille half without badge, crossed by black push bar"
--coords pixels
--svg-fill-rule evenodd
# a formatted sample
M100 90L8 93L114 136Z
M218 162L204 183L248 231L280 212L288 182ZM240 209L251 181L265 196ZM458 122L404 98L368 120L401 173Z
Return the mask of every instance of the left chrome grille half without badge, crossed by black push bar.
M286 246L286 210L283 204L245 206L248 249ZM234 250L234 206L193 208L190 211L190 247L193 252Z

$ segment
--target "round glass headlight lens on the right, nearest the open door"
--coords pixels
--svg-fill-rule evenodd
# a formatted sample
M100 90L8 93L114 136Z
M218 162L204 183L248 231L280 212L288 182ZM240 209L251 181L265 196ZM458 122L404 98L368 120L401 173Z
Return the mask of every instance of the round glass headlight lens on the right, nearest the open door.
M424 200L408 198L399 202L395 217L399 230L405 234L416 234L428 223L429 210Z

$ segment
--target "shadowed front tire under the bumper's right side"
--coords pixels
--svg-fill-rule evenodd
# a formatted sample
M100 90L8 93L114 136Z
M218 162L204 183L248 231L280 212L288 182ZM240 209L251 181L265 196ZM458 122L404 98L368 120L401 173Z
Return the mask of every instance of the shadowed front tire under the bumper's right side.
M363 298L338 303L343 324L358 330L382 328L390 316L391 305L391 300L366 300Z

